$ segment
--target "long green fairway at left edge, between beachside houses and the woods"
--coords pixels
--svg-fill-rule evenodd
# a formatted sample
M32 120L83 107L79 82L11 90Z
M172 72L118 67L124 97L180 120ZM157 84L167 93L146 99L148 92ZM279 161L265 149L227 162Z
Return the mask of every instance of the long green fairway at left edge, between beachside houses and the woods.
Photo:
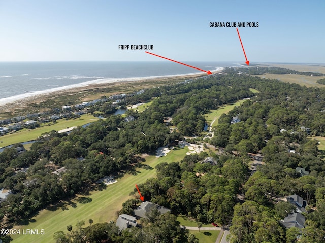
M65 119L57 120L57 122L51 126L47 126L47 124L45 123L45 126L41 126L35 129L31 129L31 130L23 129L21 131L17 131L16 133L7 134L0 137L0 140L3 141L3 143L1 143L1 147L5 147L8 145L17 144L21 142L26 142L30 140L35 140L42 133L45 132L50 132L52 130L59 131L67 127L73 127L73 126L82 126L84 124L96 120L98 120L98 118L95 118L94 116L89 114L84 114L81 115L80 118L76 118L74 120L65 120Z

